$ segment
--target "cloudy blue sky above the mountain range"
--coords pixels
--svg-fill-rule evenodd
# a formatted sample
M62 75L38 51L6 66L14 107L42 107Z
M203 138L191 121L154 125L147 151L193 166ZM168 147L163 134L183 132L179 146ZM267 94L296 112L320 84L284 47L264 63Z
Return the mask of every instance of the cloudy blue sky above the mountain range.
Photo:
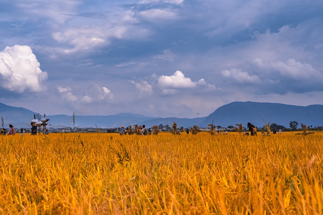
M181 118L234 101L323 104L322 9L318 0L2 0L0 102Z

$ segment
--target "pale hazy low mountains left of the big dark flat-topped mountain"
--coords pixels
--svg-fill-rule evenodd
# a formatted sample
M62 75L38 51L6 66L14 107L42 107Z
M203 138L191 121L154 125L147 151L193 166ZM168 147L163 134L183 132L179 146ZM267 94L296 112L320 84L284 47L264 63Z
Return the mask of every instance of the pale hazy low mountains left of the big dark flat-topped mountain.
M17 108L9 105L0 103L0 115L4 117L5 127L9 124L13 124L14 127L28 128L30 127L30 121L34 118L36 112L32 112L25 108ZM41 113L40 113L41 114ZM49 123L52 127L73 127L72 116L58 114L58 115L47 115L50 119ZM43 118L43 116L41 116ZM172 126L173 122L176 122L179 127L189 127L194 124L201 123L206 117L201 118L161 118L143 116L141 114L133 113L118 113L115 115L107 116L79 116L75 115L75 127L101 127L101 128L115 128L122 126L133 126L133 125L146 125L146 127L152 127L153 125L168 124Z

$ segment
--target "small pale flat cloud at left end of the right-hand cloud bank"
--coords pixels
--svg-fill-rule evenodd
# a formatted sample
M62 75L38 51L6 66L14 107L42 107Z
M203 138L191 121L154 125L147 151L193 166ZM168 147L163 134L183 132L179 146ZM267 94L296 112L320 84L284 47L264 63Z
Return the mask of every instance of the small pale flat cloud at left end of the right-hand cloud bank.
M260 79L256 75L249 75L247 72L243 72L241 69L224 70L221 72L224 77L233 79L238 83L260 83Z

